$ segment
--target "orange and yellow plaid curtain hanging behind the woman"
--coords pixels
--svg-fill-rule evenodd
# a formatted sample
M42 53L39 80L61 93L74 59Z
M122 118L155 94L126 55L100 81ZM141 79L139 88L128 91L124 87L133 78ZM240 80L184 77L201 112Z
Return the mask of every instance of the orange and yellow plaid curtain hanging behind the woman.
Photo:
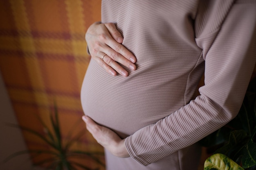
M54 100L64 137L81 119L80 89L90 61L84 36L88 26L100 20L100 4L101 0L0 1L0 72L20 125L43 133L34 114L49 123ZM28 148L44 147L38 138L23 134ZM90 134L79 147L102 151Z

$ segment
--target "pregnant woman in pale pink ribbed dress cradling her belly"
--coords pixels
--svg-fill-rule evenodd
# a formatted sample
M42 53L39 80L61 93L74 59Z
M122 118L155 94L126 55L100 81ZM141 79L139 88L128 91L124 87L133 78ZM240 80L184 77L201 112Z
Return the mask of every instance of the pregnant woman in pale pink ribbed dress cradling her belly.
M242 104L255 9L255 0L102 0L102 20L86 33L81 102L108 170L197 169L196 142Z

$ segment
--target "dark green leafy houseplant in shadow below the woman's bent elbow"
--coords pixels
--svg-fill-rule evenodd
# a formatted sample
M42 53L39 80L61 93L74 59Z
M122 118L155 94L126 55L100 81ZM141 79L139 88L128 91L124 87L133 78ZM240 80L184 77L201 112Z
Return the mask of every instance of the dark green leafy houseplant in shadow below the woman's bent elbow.
M243 105L231 122L200 141L215 153L226 155L238 165L256 169L256 78L250 81ZM212 149L213 148L213 149Z

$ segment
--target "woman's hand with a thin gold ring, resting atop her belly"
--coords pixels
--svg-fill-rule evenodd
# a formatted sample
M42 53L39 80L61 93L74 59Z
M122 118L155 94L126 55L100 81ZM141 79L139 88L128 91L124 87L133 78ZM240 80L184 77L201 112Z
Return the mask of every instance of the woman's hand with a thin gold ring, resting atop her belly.
M85 40L92 59L112 76L117 75L117 72L128 76L128 72L120 64L136 70L136 58L122 45L123 37L115 24L95 22L88 28Z

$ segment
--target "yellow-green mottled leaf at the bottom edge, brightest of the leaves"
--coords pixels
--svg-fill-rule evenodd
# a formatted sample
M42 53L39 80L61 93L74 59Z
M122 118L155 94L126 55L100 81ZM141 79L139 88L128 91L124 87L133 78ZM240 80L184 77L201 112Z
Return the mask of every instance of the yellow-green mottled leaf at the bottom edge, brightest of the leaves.
M226 155L217 153L206 159L204 170L244 170Z

